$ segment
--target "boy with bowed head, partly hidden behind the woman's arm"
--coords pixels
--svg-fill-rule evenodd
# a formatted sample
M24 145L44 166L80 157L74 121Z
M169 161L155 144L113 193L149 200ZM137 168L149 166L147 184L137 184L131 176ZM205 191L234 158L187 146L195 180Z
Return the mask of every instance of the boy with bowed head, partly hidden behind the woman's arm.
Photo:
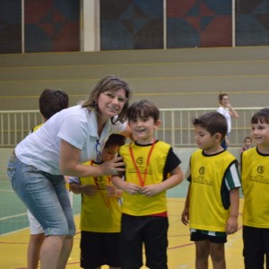
M117 157L120 146L126 138L120 134L110 134L100 153L101 161ZM88 165L98 165L90 161ZM81 213L81 267L86 269L120 268L119 232L121 209L118 197L121 191L111 184L111 176L69 178L74 194L82 194ZM90 254L90 255L89 255Z

